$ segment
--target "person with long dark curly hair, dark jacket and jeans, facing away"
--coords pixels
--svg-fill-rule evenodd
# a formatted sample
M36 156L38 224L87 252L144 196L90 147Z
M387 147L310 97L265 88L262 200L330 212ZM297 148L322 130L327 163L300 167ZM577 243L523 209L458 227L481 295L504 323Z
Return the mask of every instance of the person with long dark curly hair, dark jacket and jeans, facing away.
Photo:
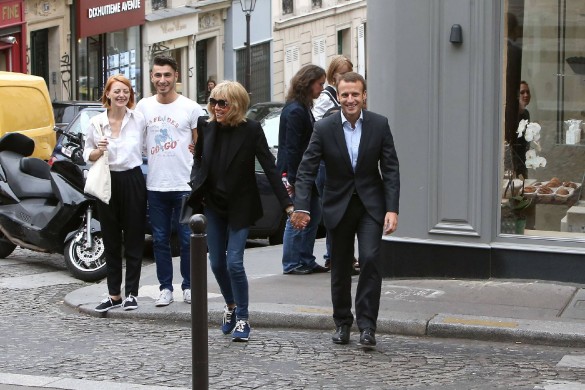
M286 104L280 115L278 132L278 169L286 176L287 189L295 199L297 169L303 153L309 145L315 119L311 113L313 99L319 97L325 84L325 70L317 65L303 66L292 78L286 97ZM315 183L313 183L315 184ZM285 275L306 275L313 272L327 272L327 268L315 261L313 249L321 216L321 204L316 185L314 196L307 208L313 218L306 229L294 229L287 220L282 244L282 268Z

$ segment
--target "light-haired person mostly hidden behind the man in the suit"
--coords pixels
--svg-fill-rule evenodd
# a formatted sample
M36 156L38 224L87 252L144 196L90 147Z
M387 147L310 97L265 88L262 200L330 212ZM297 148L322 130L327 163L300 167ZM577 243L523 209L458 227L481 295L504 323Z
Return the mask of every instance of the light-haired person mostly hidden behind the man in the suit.
M338 55L333 57L331 62L329 63L329 67L327 68L327 83L328 86L323 89L319 97L315 100L313 105L313 117L315 121L319 121L322 118L329 116L335 112L341 110L341 106L339 105L339 100L337 100L337 80L341 75L352 72L353 71L353 63L344 55ZM319 174L317 175L317 191L319 191L319 197L323 200L323 186L325 185L325 175L326 175L326 168L323 161L319 165ZM321 206L323 206L321 204ZM323 258L325 259L325 267L331 268L331 239L329 235L325 238L325 254ZM359 262L357 259L353 262L354 274L359 273Z

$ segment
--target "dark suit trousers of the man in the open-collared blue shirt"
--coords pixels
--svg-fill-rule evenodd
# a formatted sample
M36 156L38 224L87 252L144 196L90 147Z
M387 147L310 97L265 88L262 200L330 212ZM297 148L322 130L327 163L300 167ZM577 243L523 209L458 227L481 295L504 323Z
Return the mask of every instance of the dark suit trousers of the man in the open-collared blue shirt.
M356 322L360 331L366 328L376 330L382 291L382 231L382 221L372 218L359 197L354 195L339 225L328 232L331 235L331 300L336 326L353 324L351 275L357 234L360 275L355 297Z

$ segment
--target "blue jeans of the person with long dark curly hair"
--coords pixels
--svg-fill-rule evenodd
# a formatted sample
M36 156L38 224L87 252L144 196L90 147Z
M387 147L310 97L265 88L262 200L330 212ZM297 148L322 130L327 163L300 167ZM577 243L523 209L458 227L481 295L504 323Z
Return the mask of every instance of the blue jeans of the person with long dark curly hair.
M294 196L291 198L294 202ZM311 196L311 209L308 211L311 221L303 230L293 228L290 218L286 221L282 239L282 271L285 273L301 266L311 269L317 266L313 255L317 228L321 222L321 200L317 194Z

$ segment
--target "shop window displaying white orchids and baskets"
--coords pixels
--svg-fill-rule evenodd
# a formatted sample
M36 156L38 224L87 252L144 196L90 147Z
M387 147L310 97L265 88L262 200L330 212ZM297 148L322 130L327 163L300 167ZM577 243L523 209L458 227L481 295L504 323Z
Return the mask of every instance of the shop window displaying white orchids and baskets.
M501 233L585 238L583 15L581 0L506 2Z

